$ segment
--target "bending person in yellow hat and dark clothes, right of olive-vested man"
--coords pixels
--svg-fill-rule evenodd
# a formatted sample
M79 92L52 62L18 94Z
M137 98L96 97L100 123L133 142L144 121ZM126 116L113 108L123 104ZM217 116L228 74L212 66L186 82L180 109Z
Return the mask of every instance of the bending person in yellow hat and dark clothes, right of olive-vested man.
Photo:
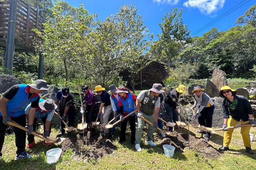
M186 93L186 86L179 85L176 89L167 93L167 96L164 100L164 108L166 111L166 117L169 122L178 121L178 100L180 99L180 95ZM173 127L168 126L168 132L172 132Z

